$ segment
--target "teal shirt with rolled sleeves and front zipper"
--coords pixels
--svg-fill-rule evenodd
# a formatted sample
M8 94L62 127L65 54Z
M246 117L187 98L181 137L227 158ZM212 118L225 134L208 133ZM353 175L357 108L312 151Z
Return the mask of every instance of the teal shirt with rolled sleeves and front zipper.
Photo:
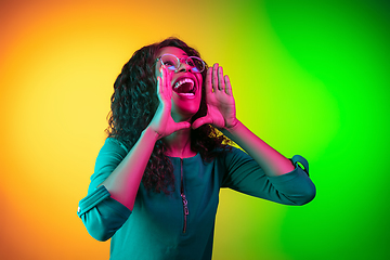
M184 159L170 157L176 178L173 194L147 192L141 183L130 211L110 198L103 185L96 188L127 153L118 141L106 140L96 158L88 195L80 200L78 210L91 236L99 240L112 238L113 260L211 259L221 187L285 205L303 205L315 196L304 158L292 157L296 169L289 173L266 177L250 156L232 147L210 162L199 154Z

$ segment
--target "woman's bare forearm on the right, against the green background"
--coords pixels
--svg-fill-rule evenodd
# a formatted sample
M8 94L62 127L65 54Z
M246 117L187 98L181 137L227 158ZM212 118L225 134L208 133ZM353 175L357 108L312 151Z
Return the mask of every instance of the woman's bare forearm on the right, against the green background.
M295 169L291 161L253 134L239 120L232 129L222 132L252 157L270 177L281 176Z

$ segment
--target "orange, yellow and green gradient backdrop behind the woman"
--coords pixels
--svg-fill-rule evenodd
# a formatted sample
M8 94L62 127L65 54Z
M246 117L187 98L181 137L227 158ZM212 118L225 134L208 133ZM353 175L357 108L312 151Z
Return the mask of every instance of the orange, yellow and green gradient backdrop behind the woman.
M230 76L238 118L310 161L288 207L221 192L213 259L390 259L388 1L0 1L0 258L108 259L76 211L113 83L177 36Z

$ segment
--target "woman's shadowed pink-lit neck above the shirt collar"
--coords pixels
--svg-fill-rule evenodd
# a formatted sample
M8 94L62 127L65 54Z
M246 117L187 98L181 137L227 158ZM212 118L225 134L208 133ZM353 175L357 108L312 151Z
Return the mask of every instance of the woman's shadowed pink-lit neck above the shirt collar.
M196 155L191 150L191 129L179 130L164 138L164 142L167 145L166 154L168 156L186 158Z

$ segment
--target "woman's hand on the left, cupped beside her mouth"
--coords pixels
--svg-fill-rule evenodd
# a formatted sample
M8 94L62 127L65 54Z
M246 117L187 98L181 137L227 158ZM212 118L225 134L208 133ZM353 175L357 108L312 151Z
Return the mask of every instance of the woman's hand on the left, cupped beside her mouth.
M172 75L168 73L168 69L165 66L161 66L160 75L161 77L157 77L157 96L159 104L156 114L148 126L158 134L158 139L168 136L178 130L191 127L191 123L187 121L176 122L173 120L171 116Z

